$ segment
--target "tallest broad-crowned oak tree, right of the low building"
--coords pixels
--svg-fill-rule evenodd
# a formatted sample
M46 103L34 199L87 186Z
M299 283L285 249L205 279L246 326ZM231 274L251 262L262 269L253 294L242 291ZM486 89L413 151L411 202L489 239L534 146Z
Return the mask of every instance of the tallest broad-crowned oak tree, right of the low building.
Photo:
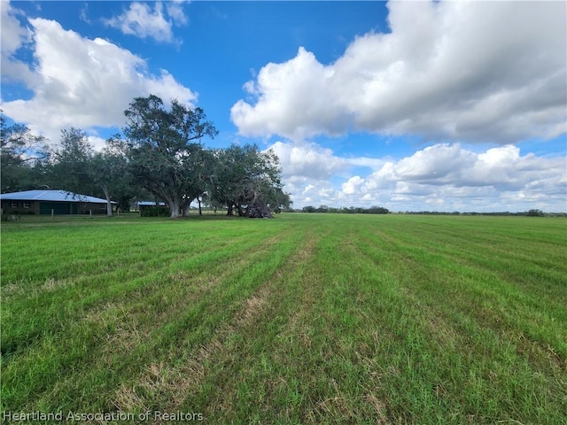
M206 152L200 141L218 131L201 108L177 100L167 109L154 95L136 97L125 112L122 142L136 179L164 200L175 219L204 192Z

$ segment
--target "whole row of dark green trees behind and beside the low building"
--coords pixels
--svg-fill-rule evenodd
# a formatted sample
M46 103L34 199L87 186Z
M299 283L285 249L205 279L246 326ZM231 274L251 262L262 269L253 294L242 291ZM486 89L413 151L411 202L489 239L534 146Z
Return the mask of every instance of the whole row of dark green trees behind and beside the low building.
M61 132L58 147L1 116L2 193L63 189L102 197L107 214L129 210L135 200L165 202L171 218L185 216L190 204L226 208L228 215L268 217L290 208L274 151L255 144L207 149L201 140L218 131L201 108L156 96L136 97L124 112L127 124L102 151L95 151L80 128Z

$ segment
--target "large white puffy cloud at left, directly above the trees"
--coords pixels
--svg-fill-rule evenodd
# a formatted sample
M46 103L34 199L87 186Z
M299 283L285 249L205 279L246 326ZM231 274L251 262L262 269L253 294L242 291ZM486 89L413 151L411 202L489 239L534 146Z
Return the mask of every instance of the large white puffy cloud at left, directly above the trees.
M3 109L36 134L58 140L61 128L120 127L132 99L151 93L166 102L171 98L186 104L197 100L196 93L166 70L150 73L144 59L112 42L82 37L54 20L28 22L34 66L9 58L2 67L3 75L5 66L24 68L20 80L33 97L4 102ZM21 28L12 26L12 33L12 37L22 34Z

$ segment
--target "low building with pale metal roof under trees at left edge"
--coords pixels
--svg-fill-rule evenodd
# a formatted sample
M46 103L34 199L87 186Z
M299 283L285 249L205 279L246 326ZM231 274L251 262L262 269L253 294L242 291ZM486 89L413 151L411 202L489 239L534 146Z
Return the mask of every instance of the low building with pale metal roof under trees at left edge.
M106 199L65 190L25 190L0 195L4 214L105 214ZM112 203L113 205L116 202Z

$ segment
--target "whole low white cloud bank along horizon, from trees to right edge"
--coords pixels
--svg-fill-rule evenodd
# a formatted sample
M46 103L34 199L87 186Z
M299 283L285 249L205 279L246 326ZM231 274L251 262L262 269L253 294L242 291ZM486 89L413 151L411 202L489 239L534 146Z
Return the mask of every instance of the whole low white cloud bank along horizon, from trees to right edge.
M532 208L565 212L567 208L565 158L522 154L512 144L476 152L459 143L437 143L405 158L376 158L368 174L360 174L356 158L337 157L315 143L299 146L296 156L289 154L293 143L276 143L275 149L287 152L283 182L296 208L381 205L392 211L446 212ZM309 158L322 162L313 173Z

